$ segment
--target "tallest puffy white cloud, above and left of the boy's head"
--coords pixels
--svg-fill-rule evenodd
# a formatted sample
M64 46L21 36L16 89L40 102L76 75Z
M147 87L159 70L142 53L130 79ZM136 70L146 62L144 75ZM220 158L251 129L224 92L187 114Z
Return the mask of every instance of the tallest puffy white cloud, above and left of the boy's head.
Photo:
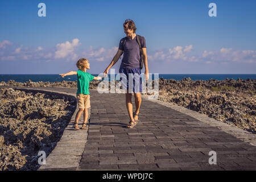
M74 52L75 47L78 47L81 43L79 43L79 39L73 39L72 43L69 41L65 43L59 43L56 45L57 51L55 52L55 59L65 58L67 56L71 56L72 59L77 57Z

